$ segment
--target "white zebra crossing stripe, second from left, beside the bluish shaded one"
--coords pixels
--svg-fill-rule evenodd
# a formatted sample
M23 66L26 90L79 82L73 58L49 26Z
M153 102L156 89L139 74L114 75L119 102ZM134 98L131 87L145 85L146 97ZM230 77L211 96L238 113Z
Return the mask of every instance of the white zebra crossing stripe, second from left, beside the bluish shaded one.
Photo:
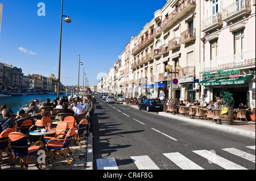
M159 167L155 165L152 159L147 155L131 157L131 159L133 159L139 170L160 170Z

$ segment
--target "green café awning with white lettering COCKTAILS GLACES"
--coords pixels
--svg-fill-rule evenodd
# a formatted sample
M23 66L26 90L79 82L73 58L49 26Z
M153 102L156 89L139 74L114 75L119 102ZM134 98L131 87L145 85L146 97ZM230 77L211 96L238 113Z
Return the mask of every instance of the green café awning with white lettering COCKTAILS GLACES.
M241 75L240 77L235 78L216 78L208 79L199 82L201 86L221 86L221 85L236 85L236 84L245 84L245 80L251 77L251 75Z

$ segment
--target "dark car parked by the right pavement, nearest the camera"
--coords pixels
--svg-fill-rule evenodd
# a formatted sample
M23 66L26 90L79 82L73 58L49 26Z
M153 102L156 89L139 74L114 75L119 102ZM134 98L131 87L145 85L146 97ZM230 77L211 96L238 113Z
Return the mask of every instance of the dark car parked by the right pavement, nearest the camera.
M163 104L160 102L160 99L146 99L139 103L139 110L149 111L163 111Z

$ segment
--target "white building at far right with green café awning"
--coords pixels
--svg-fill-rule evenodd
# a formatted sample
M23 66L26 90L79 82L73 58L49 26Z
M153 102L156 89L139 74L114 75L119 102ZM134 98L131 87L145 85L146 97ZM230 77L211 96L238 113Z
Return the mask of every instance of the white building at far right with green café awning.
M234 106L255 102L255 1L201 1L204 33L201 96L233 93Z

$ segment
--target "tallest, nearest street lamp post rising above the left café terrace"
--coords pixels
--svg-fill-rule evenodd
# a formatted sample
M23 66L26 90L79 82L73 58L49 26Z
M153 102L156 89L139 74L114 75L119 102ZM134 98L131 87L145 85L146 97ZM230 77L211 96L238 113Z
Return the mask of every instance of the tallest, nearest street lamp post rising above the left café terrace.
M58 85L57 85L57 97L60 97L60 62L61 62L61 36L62 36L62 19L63 17L67 17L64 19L66 23L71 23L71 19L69 16L63 15L63 0L61 2L61 18L60 18L60 51L59 51L59 71L58 71Z

